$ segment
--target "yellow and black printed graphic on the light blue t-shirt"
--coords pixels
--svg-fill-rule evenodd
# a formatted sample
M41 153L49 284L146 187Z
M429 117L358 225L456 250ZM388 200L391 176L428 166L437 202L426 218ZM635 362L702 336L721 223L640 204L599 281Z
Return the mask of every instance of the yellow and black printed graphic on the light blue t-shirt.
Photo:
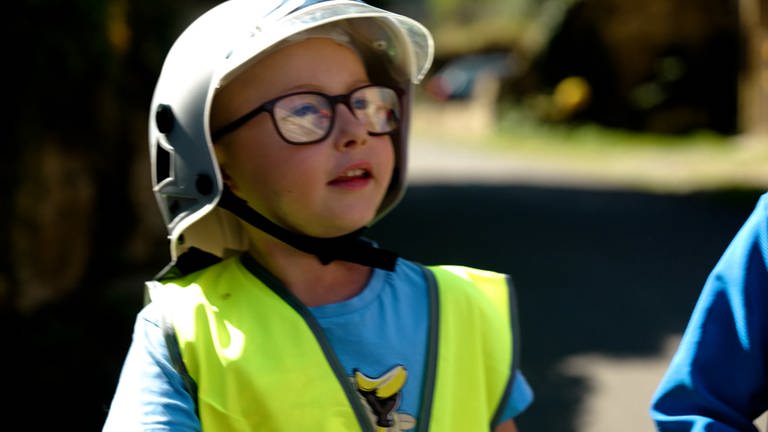
M376 432L407 431L416 426L412 416L397 412L407 379L408 372L403 366L395 366L380 377L369 377L355 370L353 380L357 393L368 409Z

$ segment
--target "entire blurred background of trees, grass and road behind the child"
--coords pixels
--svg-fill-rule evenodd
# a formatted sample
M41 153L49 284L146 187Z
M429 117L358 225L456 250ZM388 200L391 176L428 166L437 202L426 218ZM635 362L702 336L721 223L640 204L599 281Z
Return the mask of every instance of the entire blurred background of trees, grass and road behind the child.
M6 12L3 409L99 430L168 261L148 107L215 1L22 0ZM433 30L411 187L371 230L517 286L521 431L643 431L709 269L768 187L764 0L373 1ZM765 424L765 422L763 422Z

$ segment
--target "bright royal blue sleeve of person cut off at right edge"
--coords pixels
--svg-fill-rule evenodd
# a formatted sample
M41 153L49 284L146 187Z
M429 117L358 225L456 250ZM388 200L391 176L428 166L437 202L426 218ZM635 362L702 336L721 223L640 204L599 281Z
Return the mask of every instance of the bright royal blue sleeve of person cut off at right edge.
M756 431L768 409L768 195L707 278L651 400L659 431Z

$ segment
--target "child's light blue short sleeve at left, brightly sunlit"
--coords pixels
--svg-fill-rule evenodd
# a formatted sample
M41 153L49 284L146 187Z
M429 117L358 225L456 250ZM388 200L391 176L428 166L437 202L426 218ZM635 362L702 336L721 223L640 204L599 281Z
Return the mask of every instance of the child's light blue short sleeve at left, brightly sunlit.
M200 431L192 398L171 364L158 312L150 303L136 318L105 432Z

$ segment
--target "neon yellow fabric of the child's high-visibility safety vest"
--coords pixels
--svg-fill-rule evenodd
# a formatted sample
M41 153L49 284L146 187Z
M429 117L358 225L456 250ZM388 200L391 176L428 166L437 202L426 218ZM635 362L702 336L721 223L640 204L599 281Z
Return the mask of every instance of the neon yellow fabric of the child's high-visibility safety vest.
M505 275L466 267L425 275L432 323L413 430L490 430L515 368L512 288ZM372 425L311 313L263 269L224 260L164 282L152 299L197 384L203 430L386 430Z

